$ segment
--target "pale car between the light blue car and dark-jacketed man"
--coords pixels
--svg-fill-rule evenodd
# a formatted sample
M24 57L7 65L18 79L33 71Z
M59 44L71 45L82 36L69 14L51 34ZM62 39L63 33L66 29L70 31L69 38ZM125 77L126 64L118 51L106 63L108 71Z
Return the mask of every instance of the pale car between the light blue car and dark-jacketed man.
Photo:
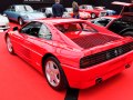
M53 17L52 7L41 8L39 9L39 11L43 12L47 16L47 18Z

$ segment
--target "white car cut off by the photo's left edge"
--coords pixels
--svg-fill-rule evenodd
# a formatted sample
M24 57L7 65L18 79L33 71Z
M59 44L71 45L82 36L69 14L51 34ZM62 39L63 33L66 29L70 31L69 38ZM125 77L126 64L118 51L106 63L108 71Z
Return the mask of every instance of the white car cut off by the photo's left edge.
M9 19L2 14L0 14L0 30L9 29Z

